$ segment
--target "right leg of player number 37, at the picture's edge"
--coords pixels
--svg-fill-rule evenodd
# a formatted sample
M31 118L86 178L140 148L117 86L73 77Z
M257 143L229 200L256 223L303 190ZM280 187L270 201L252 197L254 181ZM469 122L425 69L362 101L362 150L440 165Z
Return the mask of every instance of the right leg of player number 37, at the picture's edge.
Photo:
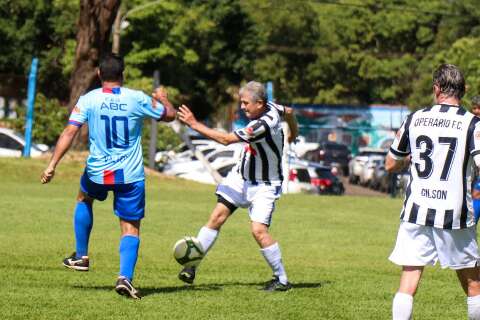
M458 280L467 295L469 320L480 320L480 269L478 267L457 270Z

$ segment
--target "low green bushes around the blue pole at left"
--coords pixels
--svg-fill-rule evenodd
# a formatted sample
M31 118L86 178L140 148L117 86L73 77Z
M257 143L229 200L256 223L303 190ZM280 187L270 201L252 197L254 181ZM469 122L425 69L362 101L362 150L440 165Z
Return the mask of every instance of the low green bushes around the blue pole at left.
M22 106L17 111L18 118L13 122L13 127L19 132L24 132L26 108ZM35 99L33 117L33 140L37 143L53 146L65 128L68 110L57 99L47 99L43 94L38 93Z

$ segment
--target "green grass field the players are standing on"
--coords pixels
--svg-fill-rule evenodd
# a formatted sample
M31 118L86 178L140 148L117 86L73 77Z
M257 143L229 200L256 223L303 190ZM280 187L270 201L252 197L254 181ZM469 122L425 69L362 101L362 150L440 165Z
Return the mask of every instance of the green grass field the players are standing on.
M147 216L134 283L140 301L113 291L119 227L111 199L94 206L91 270L64 269L74 249L72 211L81 162L39 183L46 160L0 160L0 319L389 319L399 268L387 257L401 200L285 195L271 232L294 289L257 290L271 272L238 210L203 261L196 285L176 276L171 249L196 235L215 203L214 187L148 177ZM427 269L415 319L465 319L456 276Z

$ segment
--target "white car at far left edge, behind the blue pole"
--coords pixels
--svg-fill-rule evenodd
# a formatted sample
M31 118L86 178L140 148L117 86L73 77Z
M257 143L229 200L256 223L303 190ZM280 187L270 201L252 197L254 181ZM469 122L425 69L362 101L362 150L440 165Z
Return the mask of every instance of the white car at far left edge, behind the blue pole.
M22 156L25 147L25 138L15 131L7 128L0 128L0 157L16 157ZM45 144L31 144L30 156L39 157L48 151Z

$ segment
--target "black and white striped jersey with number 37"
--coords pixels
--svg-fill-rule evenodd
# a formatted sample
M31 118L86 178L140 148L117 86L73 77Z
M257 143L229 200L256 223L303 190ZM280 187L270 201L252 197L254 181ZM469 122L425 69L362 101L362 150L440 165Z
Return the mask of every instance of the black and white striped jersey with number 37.
M471 190L475 163L480 165L479 121L446 104L406 118L389 153L397 160L411 155L401 220L442 229L475 224Z

